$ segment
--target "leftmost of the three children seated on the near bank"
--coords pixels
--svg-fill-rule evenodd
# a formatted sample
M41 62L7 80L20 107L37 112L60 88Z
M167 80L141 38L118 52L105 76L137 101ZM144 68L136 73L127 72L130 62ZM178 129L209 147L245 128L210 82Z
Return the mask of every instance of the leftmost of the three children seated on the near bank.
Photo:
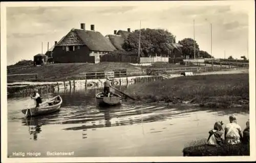
M221 138L221 136L224 133L222 125L223 125L222 121L221 122L218 121L214 124L214 129L209 131L209 136L207 139L207 142L209 145L221 146L224 144L224 141Z

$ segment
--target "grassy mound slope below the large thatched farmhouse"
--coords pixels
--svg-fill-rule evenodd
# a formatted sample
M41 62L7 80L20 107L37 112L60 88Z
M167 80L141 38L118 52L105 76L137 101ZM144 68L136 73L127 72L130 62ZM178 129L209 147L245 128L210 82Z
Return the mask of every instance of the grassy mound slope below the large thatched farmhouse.
M138 69L136 66L129 63L119 62L101 62L98 64L89 63L59 63L49 64L44 66L29 66L25 68L13 68L10 69L8 75L11 74L38 74L38 78L44 81L56 81L56 80L67 80L67 79L78 79L79 73L87 72L99 72L99 71L113 71L114 69L127 69L133 70ZM8 82L14 82L8 80ZM20 81L20 80L19 80Z

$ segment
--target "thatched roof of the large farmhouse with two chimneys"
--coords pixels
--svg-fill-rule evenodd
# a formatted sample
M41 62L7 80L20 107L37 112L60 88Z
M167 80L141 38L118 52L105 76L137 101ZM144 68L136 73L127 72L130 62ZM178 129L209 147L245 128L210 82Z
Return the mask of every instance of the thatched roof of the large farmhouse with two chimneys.
M72 29L56 46L87 45L91 51L113 52L114 45L100 32Z

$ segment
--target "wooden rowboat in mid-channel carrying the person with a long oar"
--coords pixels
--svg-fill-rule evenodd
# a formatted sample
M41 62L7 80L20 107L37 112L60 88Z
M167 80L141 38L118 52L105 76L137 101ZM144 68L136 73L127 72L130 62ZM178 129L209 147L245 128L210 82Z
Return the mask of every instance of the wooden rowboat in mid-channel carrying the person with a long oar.
M114 106L120 105L122 97L117 94L110 94L109 97L104 96L103 92L96 94L96 99L99 105L101 106Z

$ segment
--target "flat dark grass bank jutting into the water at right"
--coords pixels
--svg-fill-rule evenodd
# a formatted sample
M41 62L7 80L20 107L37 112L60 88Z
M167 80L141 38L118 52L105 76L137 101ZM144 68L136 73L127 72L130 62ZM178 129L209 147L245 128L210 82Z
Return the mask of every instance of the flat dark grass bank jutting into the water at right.
M136 90L136 91L135 91ZM249 74L201 75L132 85L127 94L144 102L201 107L249 107Z

